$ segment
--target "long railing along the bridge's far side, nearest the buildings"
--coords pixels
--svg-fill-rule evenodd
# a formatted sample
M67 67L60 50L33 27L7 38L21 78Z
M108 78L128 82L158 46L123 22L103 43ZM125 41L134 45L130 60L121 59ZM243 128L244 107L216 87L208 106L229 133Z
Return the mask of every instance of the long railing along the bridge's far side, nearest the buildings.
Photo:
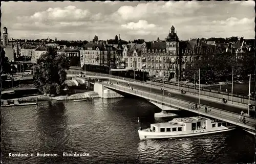
M77 72L69 71L69 73L75 75L75 73L77 73ZM110 78L110 75L101 74L101 73L87 72L86 75L93 75L93 76L101 76L101 77ZM131 79L131 78L123 78L123 77L114 76L114 75L112 75L111 77L115 78L115 79L126 80L128 82L137 82L137 83L141 83L141 84L147 85L147 86L150 86L150 85L158 86L158 87L163 86L163 81L161 81L161 83L160 82L154 82L154 81L147 81L146 83L142 83L142 81L140 81L140 80L134 80L134 79ZM179 84L178 85L177 83L164 81L164 87L168 88L170 90L178 91L178 92L180 92L181 89L183 89L189 95L197 96L199 94L199 87L195 87L195 86L190 86L190 85L185 85L185 84ZM236 95L235 92L233 92L233 98L231 98L231 93L224 92L224 91L219 92L219 91L216 91L216 90L200 87L200 95L202 97L204 96L208 99L215 98L216 101L222 101L222 99L225 98L227 101L231 102L234 105L239 105L239 106L243 106L243 107L248 106L248 96ZM253 106L255 105L255 101L254 101L253 97L250 98L250 104L253 105Z

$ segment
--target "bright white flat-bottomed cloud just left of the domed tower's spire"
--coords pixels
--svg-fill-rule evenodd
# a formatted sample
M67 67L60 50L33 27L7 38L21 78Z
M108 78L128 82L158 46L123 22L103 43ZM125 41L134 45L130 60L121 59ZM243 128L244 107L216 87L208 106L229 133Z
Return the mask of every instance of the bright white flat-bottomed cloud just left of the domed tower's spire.
M122 28L130 29L130 30L147 30L155 28L155 24L148 24L146 20L139 20L137 23L129 22L125 25L121 25Z

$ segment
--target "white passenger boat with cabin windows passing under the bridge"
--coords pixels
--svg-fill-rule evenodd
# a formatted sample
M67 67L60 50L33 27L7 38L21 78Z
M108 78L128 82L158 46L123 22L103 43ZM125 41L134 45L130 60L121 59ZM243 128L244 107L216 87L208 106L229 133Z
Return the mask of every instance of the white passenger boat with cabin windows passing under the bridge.
M167 123L151 124L151 128L139 129L140 139L190 137L225 132L236 126L221 120L210 120L202 116L175 118Z

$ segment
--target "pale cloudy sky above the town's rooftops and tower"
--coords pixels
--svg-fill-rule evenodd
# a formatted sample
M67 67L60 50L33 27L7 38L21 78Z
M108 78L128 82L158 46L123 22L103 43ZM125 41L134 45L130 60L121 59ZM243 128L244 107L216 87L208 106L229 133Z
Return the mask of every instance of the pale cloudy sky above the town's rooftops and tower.
M180 40L255 36L254 1L2 2L1 31L9 39Z

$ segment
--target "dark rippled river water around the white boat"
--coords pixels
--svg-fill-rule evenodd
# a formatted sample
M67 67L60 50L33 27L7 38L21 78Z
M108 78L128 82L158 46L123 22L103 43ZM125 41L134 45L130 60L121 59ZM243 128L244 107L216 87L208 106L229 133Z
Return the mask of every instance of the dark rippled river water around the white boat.
M138 98L39 102L2 109L3 163L238 163L254 161L254 136L241 130L174 140L139 141L160 110ZM188 113L180 113L187 116ZM36 153L57 153L38 157ZM63 157L86 152L90 156ZM9 153L35 156L9 157Z

